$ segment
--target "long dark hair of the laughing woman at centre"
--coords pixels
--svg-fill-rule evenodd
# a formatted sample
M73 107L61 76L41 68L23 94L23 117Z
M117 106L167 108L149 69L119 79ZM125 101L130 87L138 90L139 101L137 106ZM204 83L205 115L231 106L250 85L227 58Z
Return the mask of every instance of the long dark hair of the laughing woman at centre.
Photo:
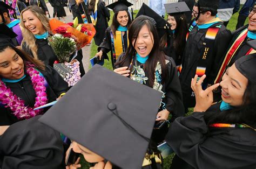
M157 62L160 62L161 71L162 71L162 82L164 82L166 76L166 64L165 64L165 55L162 51L160 51L159 37L157 33L156 27L153 23L146 17L140 16L133 20L132 24L129 27L129 47L124 54L122 60L116 62L116 66L123 67L129 66L133 56L136 54L136 50L133 47L132 41L134 40L134 45L136 44L136 40L139 34L139 31L142 27L146 25L149 29L150 33L152 33L152 37L154 40L153 48L149 54L149 59L147 59L143 69L147 74L147 78L149 78L149 87L153 87L154 84L154 72L157 66ZM131 66L132 69L133 65Z

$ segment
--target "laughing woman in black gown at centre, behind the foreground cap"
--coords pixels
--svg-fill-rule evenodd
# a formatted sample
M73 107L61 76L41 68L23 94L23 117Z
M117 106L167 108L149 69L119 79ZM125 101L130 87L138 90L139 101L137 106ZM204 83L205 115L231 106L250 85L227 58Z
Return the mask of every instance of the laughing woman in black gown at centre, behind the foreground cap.
M130 45L127 52L118 58L114 72L129 76L132 80L156 89L163 94L157 114L157 123L169 119L169 114L172 115L170 121L183 116L184 108L176 65L173 59L160 51L158 32L154 24L157 24L156 21L147 16L139 16L134 19L129 29L129 32L131 32L131 36L129 36ZM149 26L147 29L153 34L153 42L151 39L147 39L150 37L146 37L146 32L140 31L143 30L142 27L145 25ZM143 34L145 35L142 36ZM138 43L132 44L134 36L137 36ZM143 38L145 39L143 40ZM153 45L151 49L150 45ZM142 46L145 48L140 51L139 48ZM152 147L163 141L167 130L168 125L153 130Z

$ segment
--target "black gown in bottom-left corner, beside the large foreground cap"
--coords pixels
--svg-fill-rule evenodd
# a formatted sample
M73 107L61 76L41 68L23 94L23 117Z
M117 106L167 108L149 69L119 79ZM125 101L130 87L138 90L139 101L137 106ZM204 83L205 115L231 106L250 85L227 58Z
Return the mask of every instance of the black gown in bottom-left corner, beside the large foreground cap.
M39 117L12 124L0 136L0 168L65 168L59 132L39 122Z

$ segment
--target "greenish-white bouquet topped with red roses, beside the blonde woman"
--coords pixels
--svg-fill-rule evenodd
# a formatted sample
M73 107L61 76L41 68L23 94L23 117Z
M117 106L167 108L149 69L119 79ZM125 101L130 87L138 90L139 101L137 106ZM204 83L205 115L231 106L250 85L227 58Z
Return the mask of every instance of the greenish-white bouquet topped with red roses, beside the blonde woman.
M69 62L72 54L76 53L77 45L65 27L58 27L56 34L48 38L49 44L55 52L59 62ZM65 33L62 33L65 32Z

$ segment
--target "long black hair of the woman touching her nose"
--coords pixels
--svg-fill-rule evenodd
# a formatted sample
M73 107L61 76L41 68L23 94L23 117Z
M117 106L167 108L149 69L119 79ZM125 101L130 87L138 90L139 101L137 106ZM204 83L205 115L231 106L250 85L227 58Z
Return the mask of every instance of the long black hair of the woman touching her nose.
M242 105L233 109L221 112L205 113L205 121L212 123L234 123L253 125L256 123L256 85L248 81L244 96L242 97Z

